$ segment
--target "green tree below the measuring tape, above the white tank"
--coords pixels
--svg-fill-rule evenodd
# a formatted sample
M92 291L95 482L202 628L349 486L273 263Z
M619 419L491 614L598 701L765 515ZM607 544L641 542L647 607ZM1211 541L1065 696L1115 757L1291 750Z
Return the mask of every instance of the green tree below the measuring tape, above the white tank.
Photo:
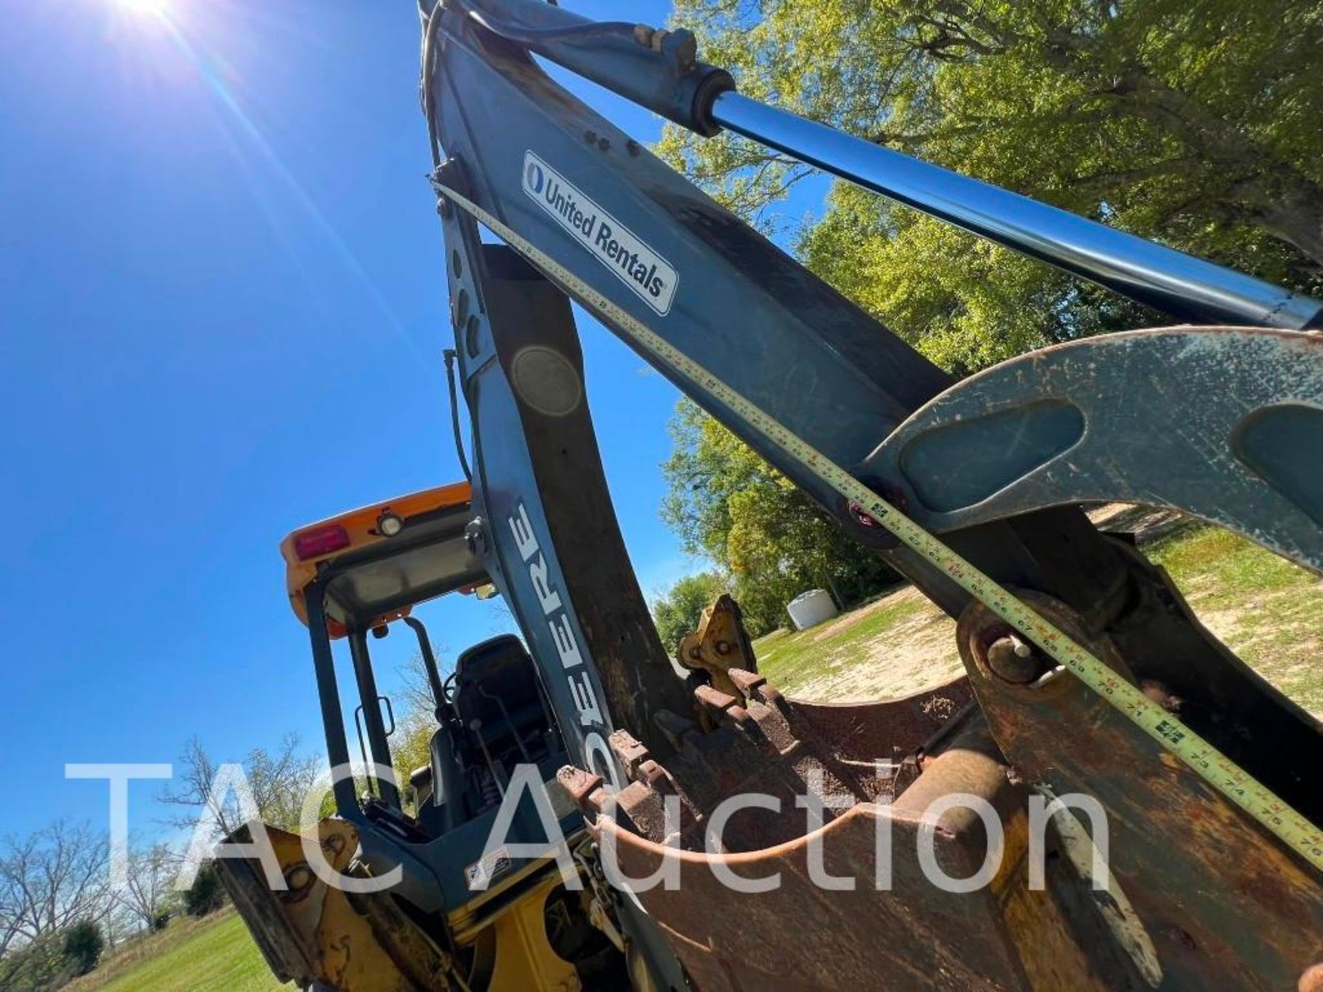
M754 636L781 626L786 604L804 590L828 589L849 606L896 581L881 559L693 402L680 401L671 435L662 516L687 552L729 571Z

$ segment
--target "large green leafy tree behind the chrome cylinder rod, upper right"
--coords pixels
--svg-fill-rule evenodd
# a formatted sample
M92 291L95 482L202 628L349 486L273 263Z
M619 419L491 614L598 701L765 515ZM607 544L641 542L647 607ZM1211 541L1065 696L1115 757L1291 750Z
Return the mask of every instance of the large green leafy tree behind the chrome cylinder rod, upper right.
M1323 291L1312 0L677 0L675 21L750 97ZM808 173L729 134L660 151L762 222ZM1163 320L840 184L798 247L954 372Z

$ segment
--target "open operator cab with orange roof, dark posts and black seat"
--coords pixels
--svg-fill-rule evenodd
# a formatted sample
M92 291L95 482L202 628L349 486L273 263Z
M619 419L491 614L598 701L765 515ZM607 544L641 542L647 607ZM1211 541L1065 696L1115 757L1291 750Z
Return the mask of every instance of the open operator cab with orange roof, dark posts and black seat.
M331 765L351 761L333 661L333 643L347 641L359 696L355 757L378 770L366 776L365 796L356 795L353 778L336 784L339 813L417 844L464 835L476 848L468 850L474 845L466 843L464 850L447 850L446 860L458 854L470 873L484 870L475 866L487 831L475 825L495 816L516 768L536 765L549 782L569 763L537 665L519 638L503 635L468 648L443 677L427 631L413 616L419 603L451 593L496 595L466 538L471 520L470 487L458 483L300 528L280 545L290 602L312 640ZM404 783L392 783L384 771L393 765L388 738L394 714L377 690L369 651L369 635L384 638L398 624L418 639L437 720L430 762L410 775L415 811L401 803ZM566 823L581 827L574 813Z

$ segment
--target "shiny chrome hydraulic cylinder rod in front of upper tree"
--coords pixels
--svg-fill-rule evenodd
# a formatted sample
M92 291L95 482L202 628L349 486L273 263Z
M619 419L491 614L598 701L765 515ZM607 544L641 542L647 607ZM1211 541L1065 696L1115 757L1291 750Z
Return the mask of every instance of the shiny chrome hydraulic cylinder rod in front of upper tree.
M1323 303L931 165L736 91L712 119L957 227L1199 324L1323 327Z

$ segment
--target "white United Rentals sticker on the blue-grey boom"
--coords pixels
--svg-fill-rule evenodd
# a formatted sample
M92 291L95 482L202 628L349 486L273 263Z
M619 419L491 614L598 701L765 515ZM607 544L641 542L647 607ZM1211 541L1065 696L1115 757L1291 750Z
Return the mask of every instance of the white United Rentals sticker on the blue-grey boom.
M652 310L671 312L680 274L533 152L524 152L524 192Z

